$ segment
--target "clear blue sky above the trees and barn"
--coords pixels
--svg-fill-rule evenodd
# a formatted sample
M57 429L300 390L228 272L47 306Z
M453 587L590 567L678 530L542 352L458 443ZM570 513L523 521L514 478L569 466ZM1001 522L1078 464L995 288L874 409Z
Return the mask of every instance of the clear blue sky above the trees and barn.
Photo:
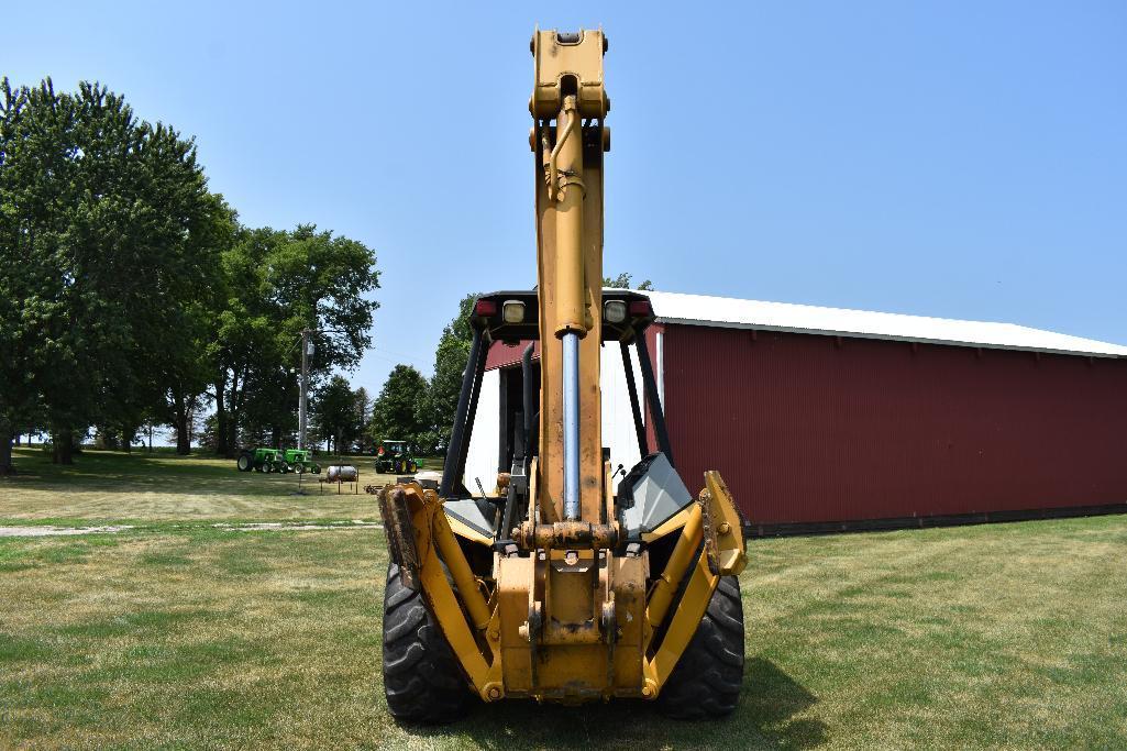
M246 223L373 247L372 390L534 282L538 23L610 38L607 272L1127 344L1127 3L100 5L9 3L0 73L100 80Z

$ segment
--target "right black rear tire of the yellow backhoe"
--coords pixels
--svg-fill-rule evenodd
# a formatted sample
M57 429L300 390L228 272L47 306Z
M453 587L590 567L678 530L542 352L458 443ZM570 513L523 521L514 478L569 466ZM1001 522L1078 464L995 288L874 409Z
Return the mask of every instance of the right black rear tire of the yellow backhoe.
M744 682L744 604L739 580L722 576L701 625L657 697L658 710L675 719L726 717Z

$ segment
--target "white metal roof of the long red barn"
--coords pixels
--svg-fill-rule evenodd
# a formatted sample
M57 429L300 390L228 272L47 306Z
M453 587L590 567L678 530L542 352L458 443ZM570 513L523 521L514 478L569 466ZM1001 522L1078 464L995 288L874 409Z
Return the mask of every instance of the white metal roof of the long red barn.
M669 324L1027 350L1097 357L1127 357L1127 346L1015 324L904 316L680 292L645 292L645 294L653 301L654 313L658 320Z

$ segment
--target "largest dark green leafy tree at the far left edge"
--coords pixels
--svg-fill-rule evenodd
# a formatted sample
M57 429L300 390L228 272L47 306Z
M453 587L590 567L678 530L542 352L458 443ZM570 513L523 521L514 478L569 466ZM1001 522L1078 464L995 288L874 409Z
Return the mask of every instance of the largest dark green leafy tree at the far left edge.
M106 87L0 80L0 471L32 415L69 463L73 433L132 435L165 399L154 363L210 285L221 203L193 141Z

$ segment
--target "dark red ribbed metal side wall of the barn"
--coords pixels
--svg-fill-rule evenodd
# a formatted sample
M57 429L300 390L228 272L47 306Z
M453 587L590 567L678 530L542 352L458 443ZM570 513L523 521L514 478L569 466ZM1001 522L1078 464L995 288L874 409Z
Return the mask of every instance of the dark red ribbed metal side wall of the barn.
M1125 360L663 328L677 467L753 524L1127 502Z

